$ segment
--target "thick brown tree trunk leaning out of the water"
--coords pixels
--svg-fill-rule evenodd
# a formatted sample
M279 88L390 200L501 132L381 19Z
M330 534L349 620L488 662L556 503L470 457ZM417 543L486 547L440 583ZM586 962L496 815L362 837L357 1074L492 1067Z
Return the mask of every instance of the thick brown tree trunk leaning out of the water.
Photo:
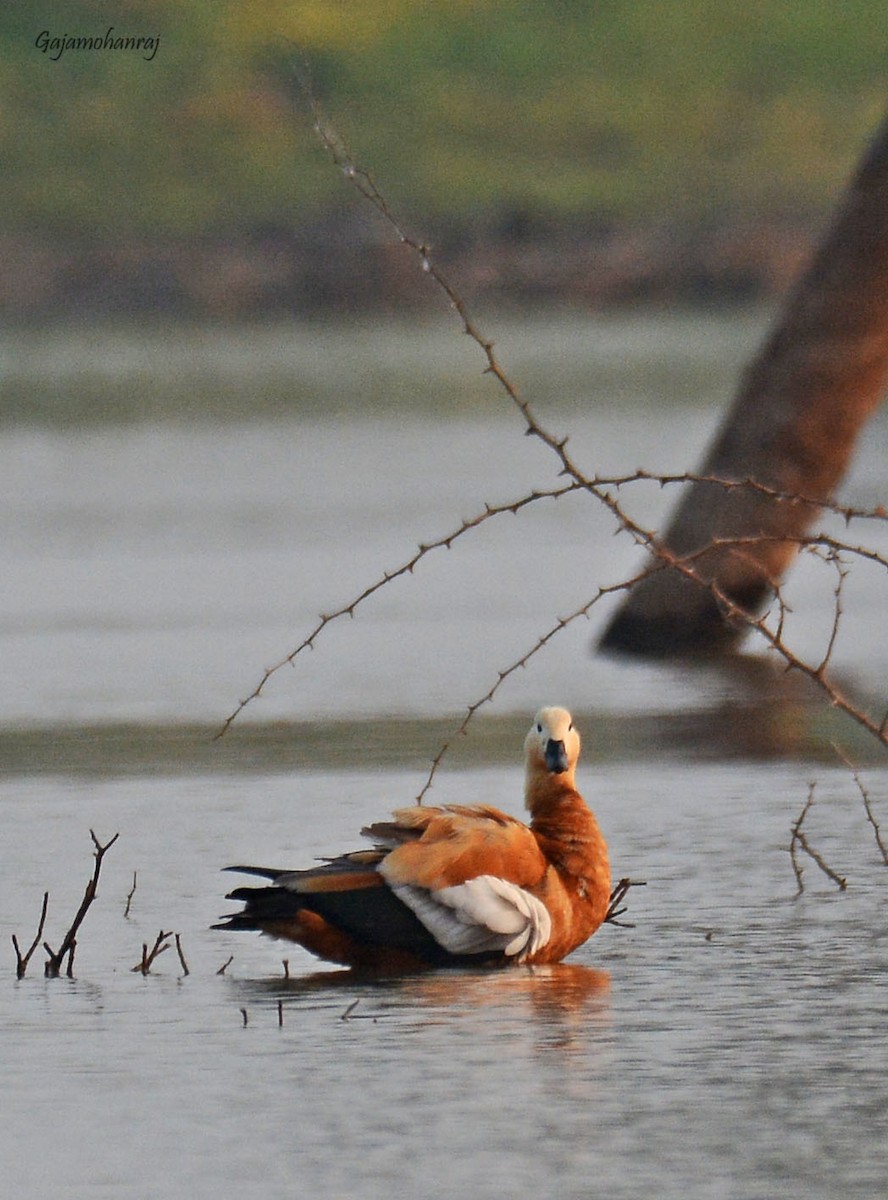
M697 474L760 484L817 500L840 482L888 380L888 120L880 128L832 229L748 368ZM797 538L817 509L749 488L695 482L660 545L677 556L716 538ZM773 594L797 546L715 547L695 570L744 611ZM608 650L712 654L745 625L725 618L712 592L676 568L653 566L626 595L601 640Z

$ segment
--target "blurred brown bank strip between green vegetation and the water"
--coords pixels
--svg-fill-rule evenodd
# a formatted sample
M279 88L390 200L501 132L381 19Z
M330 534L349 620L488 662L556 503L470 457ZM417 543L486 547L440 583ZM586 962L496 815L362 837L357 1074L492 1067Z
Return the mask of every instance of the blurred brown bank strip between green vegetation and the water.
M511 221L431 239L472 304L522 310L708 308L782 295L818 230L810 221L578 227ZM415 254L361 216L197 239L0 234L0 312L34 324L152 316L253 319L438 311Z

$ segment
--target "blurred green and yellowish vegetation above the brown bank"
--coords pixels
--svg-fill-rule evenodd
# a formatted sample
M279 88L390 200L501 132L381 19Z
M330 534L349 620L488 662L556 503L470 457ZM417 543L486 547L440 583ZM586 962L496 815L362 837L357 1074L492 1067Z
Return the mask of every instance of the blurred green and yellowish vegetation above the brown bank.
M318 95L398 209L455 226L827 210L884 108L882 0L115 0L0 8L2 227L290 228L353 203ZM35 40L158 35L152 61ZM289 91L289 96L288 96Z

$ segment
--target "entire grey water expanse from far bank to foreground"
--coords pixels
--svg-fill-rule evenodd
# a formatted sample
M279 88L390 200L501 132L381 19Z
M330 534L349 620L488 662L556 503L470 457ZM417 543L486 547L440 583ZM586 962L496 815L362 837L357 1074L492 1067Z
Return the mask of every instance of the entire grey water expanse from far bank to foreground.
M767 314L493 318L590 473L692 466ZM606 600L509 676L430 799L521 804L540 703L626 919L568 962L360 982L212 932L229 862L300 865L410 803L466 704L638 551L586 497L490 521L331 624L228 737L236 701L385 570L556 464L449 323L2 335L0 1154L10 1194L762 1198L888 1194L888 929L857 786L883 755L754 646L731 670L592 654ZM884 499L888 422L842 499ZM656 526L674 492L632 485ZM878 524L844 530L886 553ZM804 558L787 636L826 652L835 574ZM854 563L834 664L884 696L884 581ZM787 846L809 836L839 892ZM58 944L120 833L73 980ZM133 886L130 914L126 896ZM158 930L180 934L143 978ZM233 955L223 974L222 965ZM284 971L283 960L287 960ZM286 972L289 978L286 978ZM280 1007L278 1007L280 1006ZM246 1015L244 1015L246 1014ZM246 1021L246 1024L245 1024Z

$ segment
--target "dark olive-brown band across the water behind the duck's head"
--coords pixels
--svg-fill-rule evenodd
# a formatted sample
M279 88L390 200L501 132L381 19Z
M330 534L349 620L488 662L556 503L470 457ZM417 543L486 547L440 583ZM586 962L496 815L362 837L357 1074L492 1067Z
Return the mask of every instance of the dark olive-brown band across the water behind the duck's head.
M587 710L584 758L620 762L793 762L844 769L832 742L856 764L878 766L880 746L817 697L725 702L680 713ZM444 772L512 767L527 713L485 716L454 740L458 714L354 716L313 721L244 720L220 739L221 721L85 722L0 726L0 778L290 774L415 770L424 776L445 743ZM422 782L420 778L419 782Z

